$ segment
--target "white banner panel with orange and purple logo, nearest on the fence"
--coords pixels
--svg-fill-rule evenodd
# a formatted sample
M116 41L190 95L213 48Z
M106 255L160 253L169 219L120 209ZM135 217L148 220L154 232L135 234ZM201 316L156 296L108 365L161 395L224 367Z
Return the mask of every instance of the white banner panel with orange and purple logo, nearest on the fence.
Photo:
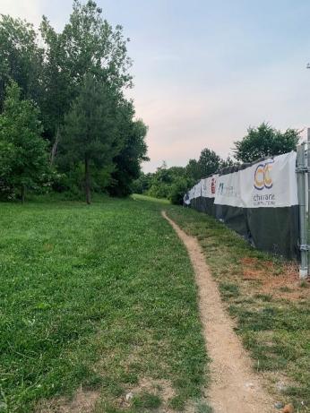
M296 152L218 176L214 203L240 208L280 208L298 204Z

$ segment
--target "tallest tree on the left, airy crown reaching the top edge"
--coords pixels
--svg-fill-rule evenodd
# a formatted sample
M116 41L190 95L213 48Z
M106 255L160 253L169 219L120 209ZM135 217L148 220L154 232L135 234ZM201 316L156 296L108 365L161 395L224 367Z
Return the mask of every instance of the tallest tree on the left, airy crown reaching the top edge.
M73 1L73 13L61 33L56 33L46 17L40 31L45 41L42 106L53 142L53 162L65 113L87 73L118 92L131 86L132 76L128 73L131 60L126 49L129 39L124 39L121 26L114 29L103 19L102 10L91 0L86 4Z

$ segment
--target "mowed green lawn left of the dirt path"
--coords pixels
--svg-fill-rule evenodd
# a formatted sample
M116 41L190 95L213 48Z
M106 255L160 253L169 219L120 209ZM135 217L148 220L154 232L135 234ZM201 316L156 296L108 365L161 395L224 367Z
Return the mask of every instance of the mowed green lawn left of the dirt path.
M0 203L0 411L53 409L77 390L96 391L98 412L200 399L194 273L161 208Z

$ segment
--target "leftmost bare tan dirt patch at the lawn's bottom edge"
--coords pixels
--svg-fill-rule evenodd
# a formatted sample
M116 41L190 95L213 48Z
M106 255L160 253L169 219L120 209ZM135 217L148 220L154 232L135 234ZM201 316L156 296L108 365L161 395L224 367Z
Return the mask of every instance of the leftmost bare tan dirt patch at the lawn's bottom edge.
M76 391L73 400L41 400L36 413L91 413L99 400L98 391Z

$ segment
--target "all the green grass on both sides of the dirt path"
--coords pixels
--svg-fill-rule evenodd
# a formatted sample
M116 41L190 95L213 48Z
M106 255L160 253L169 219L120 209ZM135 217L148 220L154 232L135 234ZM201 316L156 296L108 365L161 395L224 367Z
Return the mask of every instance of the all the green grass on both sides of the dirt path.
M79 389L96 413L211 411L194 273L162 209L198 237L270 391L309 411L308 284L214 219L133 195L0 204L0 412L56 412Z

